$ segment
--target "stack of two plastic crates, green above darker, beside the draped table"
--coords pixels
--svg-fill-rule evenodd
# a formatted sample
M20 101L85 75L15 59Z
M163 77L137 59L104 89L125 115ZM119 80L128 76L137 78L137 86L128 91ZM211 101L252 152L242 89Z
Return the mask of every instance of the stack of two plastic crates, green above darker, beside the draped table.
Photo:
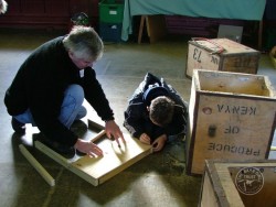
M103 41L120 42L124 1L103 0L99 3L99 35Z

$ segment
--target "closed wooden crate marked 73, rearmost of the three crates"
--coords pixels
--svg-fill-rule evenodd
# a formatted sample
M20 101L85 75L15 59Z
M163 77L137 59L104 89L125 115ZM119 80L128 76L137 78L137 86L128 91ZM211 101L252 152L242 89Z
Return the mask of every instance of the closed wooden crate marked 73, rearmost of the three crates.
M185 75L193 69L256 74L261 53L229 39L193 39L188 42Z

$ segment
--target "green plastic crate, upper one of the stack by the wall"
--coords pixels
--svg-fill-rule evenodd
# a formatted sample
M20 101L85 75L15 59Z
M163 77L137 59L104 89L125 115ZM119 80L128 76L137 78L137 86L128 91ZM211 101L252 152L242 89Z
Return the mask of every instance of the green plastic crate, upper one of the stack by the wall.
M104 0L99 3L99 22L121 23L124 18L124 2Z

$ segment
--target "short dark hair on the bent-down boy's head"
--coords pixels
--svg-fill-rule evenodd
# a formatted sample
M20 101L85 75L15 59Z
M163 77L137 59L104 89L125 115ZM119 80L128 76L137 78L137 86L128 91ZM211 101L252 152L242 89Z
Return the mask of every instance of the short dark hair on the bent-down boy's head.
M163 127L171 122L174 111L174 102L166 97L155 98L149 106L149 118L155 123Z

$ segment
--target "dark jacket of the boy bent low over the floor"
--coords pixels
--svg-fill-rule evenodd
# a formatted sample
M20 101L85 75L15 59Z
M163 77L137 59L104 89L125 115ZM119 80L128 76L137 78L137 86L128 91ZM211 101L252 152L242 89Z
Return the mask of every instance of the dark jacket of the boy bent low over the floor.
M160 88L150 96L150 100L145 98L145 92L148 88ZM164 128L153 124L148 115L147 105L159 96L167 96L176 103L174 115L170 124ZM125 111L124 127L130 132L134 138L139 138L142 133L147 133L151 141L162 134L176 135L179 133L185 133L187 128L187 102L180 97L170 85L168 85L163 78L148 73L145 79L140 83L139 87L135 90L132 97L129 99L129 105Z

